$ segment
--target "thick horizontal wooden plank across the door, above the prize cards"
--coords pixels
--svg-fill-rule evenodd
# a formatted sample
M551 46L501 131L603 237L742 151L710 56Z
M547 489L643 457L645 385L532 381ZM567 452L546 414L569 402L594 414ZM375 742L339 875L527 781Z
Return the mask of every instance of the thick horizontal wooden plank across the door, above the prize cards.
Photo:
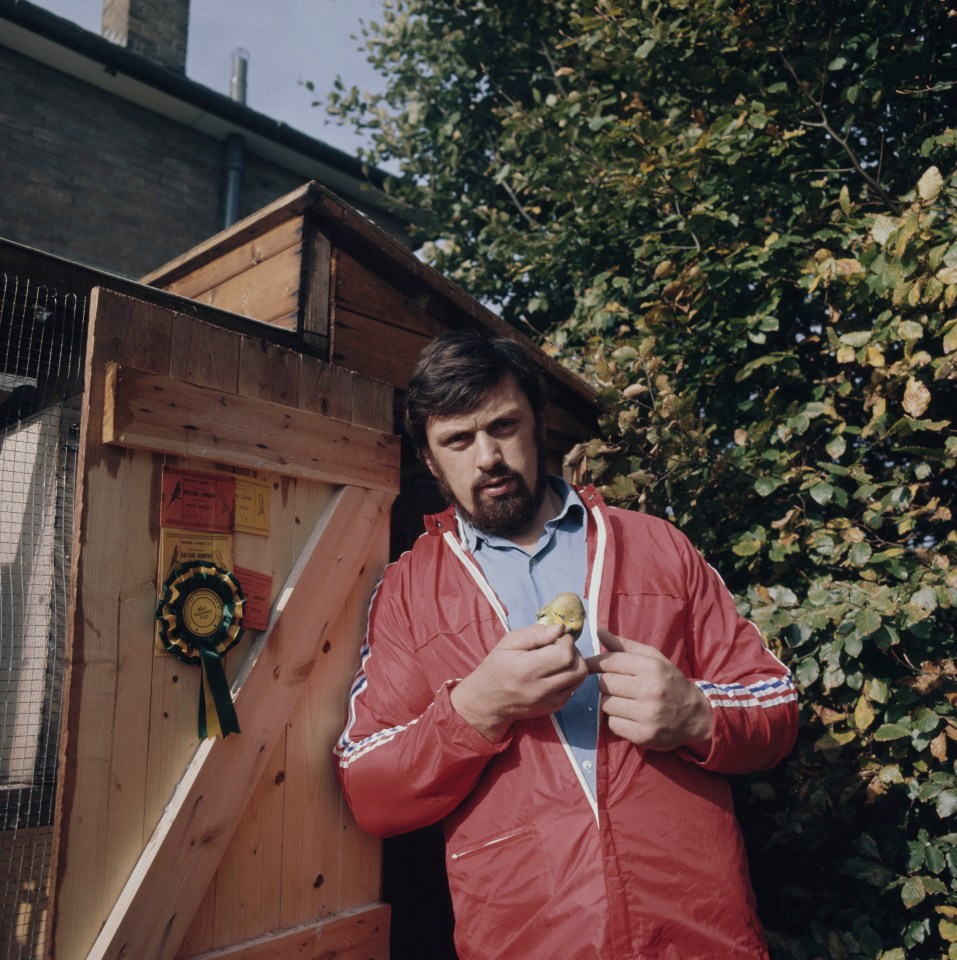
M104 443L323 483L397 490L399 438L173 377L114 366Z

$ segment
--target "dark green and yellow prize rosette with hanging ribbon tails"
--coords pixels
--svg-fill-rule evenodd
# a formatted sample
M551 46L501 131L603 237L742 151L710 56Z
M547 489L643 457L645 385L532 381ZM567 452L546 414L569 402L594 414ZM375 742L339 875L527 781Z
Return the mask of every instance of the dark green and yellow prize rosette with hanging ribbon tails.
M156 610L166 650L202 668L199 735L239 733L223 656L243 635L246 602L236 578L204 560L177 567L163 584Z

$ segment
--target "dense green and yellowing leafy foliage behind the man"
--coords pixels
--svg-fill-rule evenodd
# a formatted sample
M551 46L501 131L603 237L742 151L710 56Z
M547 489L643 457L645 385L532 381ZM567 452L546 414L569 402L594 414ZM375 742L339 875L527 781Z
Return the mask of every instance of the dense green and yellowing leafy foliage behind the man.
M424 255L595 382L582 445L788 662L741 785L772 952L957 957L957 17L392 0L334 113Z

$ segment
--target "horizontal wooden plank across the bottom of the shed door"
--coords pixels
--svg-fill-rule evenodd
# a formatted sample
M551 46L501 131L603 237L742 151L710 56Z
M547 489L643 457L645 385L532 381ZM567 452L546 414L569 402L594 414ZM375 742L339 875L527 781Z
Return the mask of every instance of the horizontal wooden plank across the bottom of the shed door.
M194 960L388 960L389 907L375 903Z

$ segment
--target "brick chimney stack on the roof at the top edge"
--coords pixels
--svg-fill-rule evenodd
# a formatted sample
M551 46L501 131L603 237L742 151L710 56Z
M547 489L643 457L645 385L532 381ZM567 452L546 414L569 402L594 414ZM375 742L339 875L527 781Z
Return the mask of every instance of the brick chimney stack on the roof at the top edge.
M189 0L103 0L103 36L186 73Z

